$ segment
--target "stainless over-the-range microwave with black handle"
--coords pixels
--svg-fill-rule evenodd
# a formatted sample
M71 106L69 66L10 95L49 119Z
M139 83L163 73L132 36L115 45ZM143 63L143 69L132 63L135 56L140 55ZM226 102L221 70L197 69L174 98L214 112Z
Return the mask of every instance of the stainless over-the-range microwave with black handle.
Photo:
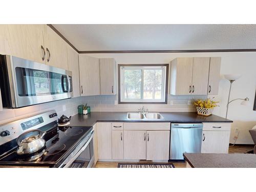
M71 71L14 56L8 58L14 91L13 108L73 97Z

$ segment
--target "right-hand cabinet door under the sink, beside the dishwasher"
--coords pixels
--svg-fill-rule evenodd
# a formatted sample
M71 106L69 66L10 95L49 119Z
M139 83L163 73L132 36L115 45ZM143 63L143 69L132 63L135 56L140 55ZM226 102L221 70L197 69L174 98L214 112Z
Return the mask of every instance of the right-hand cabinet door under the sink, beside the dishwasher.
M146 160L168 160L170 131L147 131Z

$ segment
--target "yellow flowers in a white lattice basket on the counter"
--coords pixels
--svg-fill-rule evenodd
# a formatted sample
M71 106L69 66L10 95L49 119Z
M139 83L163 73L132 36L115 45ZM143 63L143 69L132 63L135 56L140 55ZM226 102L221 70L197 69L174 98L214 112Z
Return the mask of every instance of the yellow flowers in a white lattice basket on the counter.
M202 100L202 99L198 99L196 101L194 100L194 105L197 106L198 115L209 116L212 114L212 112L214 111L214 108L216 106L219 106L217 105L219 101L214 101L212 100L213 98L214 97L208 98L205 100Z

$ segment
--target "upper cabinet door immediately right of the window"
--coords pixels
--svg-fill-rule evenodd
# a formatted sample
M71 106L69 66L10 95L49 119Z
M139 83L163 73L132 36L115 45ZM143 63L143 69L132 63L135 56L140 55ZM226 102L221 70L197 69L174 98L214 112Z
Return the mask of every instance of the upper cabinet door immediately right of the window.
M190 95L193 57L176 58L170 64L170 94Z

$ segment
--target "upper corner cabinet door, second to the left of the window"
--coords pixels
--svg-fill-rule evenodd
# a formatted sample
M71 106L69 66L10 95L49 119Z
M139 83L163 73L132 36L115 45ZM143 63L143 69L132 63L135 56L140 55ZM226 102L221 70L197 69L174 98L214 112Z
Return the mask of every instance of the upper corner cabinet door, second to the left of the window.
M79 54L81 96L100 95L99 59Z

